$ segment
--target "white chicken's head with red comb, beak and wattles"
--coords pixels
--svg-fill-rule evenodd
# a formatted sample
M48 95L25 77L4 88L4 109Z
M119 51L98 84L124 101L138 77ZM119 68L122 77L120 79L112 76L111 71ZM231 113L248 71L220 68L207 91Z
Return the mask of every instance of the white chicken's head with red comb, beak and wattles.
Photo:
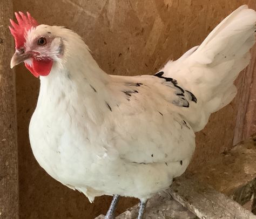
M35 76L48 76L54 61L63 54L62 38L56 35L55 26L38 25L36 20L19 12L17 23L10 19L9 26L15 38L15 53L11 68L24 61L26 68Z

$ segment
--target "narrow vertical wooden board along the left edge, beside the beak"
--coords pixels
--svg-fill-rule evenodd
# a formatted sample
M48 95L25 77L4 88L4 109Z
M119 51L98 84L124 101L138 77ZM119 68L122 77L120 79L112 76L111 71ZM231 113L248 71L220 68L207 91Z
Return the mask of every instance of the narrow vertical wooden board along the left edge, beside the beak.
M10 69L14 43L8 29L12 1L0 3L0 218L18 218L18 148L15 74Z

